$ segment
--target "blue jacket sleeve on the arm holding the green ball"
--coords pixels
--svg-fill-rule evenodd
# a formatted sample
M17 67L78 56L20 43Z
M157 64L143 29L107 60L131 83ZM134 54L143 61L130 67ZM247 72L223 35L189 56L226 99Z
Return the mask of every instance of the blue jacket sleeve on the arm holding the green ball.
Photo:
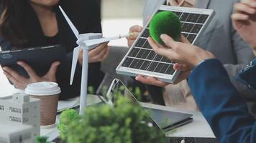
M188 82L219 142L256 142L255 119L218 60L197 66Z

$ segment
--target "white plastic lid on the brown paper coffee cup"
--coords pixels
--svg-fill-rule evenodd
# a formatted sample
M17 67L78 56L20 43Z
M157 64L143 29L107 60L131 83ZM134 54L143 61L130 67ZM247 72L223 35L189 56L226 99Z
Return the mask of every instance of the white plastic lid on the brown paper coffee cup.
M37 82L28 84L25 93L35 96L60 94L60 87L55 82Z

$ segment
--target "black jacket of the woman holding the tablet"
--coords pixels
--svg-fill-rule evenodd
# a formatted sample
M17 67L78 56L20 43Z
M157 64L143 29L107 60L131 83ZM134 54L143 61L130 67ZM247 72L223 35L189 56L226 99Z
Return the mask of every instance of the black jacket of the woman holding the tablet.
M73 21L73 24L81 34L101 33L101 6L99 0L61 0L59 5L65 9L70 20ZM68 26L68 23L65 21L63 14L61 14L58 9L58 6L55 7L55 13L59 31L54 39L46 37L43 34L40 21L28 1L24 1L23 7L25 11L24 14L22 14L22 22L19 21L19 25L22 27L24 35L27 36L28 39L28 42L23 47L61 44L65 47L65 51L67 51L69 59L68 64L70 65L73 56L73 48L77 46L77 39ZM14 47L12 43L4 40L4 37L0 39L0 45L2 50L8 50ZM100 66L100 63L89 64L88 86L93 86L95 89L99 86L103 77ZM58 71L57 79L62 89L62 99L76 97L80 94L81 67L78 67L78 70L76 70L73 86L69 85L70 69L68 69L68 71Z

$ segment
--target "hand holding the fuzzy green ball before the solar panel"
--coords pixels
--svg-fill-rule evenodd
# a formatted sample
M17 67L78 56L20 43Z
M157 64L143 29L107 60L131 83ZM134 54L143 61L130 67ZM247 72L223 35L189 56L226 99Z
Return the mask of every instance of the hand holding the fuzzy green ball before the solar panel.
M179 64L186 64L188 67L193 69L204 59L214 58L214 55L209 51L199 48L198 46L193 46L189 41L182 35L180 41L174 41L170 36L163 34L161 39L164 41L163 46L157 44L152 38L148 38L148 41L154 51L157 54L163 55L175 61Z

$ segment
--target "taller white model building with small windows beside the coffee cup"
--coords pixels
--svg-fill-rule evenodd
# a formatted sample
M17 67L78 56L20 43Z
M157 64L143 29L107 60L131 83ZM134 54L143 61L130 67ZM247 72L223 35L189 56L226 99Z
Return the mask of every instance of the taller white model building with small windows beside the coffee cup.
M9 122L31 125L32 138L40 136L40 100L27 94L0 98L0 125Z

